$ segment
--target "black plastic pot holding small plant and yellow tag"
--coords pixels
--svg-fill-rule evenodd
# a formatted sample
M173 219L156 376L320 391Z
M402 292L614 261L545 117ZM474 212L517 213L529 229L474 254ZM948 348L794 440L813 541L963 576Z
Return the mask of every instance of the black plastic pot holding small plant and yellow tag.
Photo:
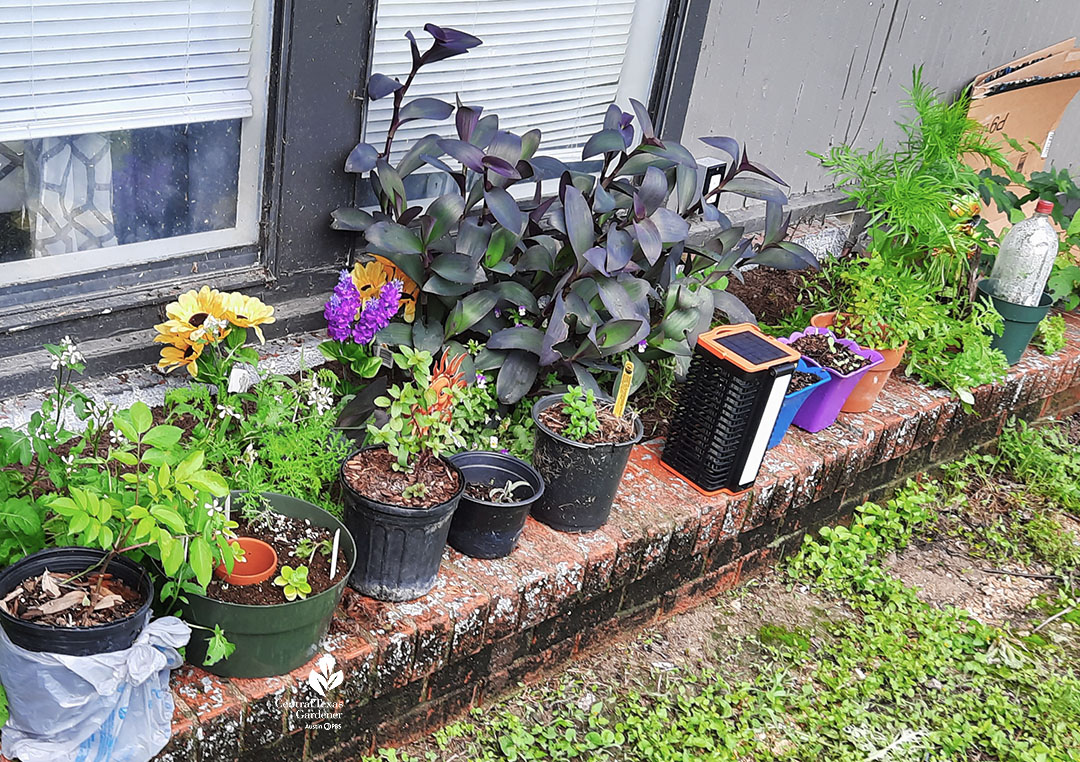
M607 523L630 450L645 430L638 419L630 441L585 445L568 439L540 421L540 413L562 399L561 394L550 394L532 405L537 426L532 464L544 480L532 516L561 532L592 532Z

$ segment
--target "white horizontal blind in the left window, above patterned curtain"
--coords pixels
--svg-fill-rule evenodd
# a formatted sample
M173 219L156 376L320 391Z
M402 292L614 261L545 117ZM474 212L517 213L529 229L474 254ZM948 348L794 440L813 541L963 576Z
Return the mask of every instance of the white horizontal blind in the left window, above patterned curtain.
M0 0L0 140L252 115L255 0Z

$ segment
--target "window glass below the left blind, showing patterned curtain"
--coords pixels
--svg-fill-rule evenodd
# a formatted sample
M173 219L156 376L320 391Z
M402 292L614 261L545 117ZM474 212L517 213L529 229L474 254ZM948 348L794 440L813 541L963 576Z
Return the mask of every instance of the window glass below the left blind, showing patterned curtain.
M226 120L0 142L0 262L233 228L240 138Z

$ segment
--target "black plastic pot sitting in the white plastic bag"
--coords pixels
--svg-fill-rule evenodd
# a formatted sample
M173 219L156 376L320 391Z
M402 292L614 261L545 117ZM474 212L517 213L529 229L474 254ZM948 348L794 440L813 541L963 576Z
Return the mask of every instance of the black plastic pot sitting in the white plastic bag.
M90 547L51 547L38 550L0 571L0 598L5 598L24 580L51 572L78 573L100 563L105 550ZM56 627L19 620L0 610L0 626L12 643L27 651L67 656L93 656L131 648L150 621L153 583L146 569L124 556L109 561L107 573L146 597L134 614L91 627Z

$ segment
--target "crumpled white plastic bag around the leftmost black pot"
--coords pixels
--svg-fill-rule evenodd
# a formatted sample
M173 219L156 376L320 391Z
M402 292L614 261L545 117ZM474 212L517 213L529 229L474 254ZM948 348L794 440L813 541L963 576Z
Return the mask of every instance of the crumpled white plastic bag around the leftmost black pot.
M148 762L172 733L168 672L191 628L146 626L125 651L65 656L21 649L0 630L0 680L11 717L3 754L21 762Z

